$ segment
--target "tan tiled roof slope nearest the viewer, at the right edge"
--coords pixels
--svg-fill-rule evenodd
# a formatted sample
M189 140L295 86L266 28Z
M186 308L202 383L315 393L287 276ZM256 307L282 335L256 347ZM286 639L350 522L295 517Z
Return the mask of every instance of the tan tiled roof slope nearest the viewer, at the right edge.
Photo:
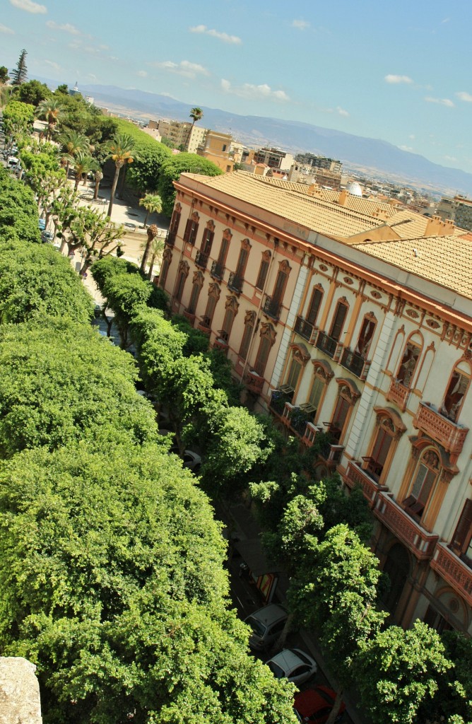
M364 242L353 248L472 299L472 235Z

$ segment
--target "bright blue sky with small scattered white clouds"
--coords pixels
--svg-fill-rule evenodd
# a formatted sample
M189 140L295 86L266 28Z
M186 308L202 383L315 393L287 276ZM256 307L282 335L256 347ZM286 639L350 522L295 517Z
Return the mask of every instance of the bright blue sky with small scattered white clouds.
M470 0L2 0L0 65L382 138L472 172ZM309 151L310 149L307 149Z

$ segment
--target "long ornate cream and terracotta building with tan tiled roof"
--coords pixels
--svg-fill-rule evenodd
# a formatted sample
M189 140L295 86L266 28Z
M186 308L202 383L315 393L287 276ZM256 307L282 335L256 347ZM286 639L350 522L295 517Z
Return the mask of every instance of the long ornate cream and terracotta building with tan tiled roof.
M329 432L315 473L362 486L393 620L472 633L472 237L244 172L176 188L172 311L300 445Z

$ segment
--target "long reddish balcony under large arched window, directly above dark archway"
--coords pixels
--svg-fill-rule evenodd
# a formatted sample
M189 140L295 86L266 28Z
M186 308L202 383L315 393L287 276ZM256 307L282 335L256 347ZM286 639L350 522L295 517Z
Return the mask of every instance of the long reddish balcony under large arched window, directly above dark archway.
M428 533L395 500L385 492L379 492L374 513L384 526L402 541L418 560L429 560L439 536Z

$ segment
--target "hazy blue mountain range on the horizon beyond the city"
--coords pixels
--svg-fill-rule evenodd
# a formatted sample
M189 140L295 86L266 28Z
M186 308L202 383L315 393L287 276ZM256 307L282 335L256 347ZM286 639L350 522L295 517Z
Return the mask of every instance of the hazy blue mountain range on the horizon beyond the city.
M115 85L83 85L80 90L98 104L135 117L189 120L187 104L169 96ZM364 138L299 121L261 116L240 116L201 106L207 128L231 133L235 140L251 146L277 146L290 153L319 153L340 159L350 169L405 183L429 192L472 195L472 174L434 164L418 153L402 151L392 143Z

